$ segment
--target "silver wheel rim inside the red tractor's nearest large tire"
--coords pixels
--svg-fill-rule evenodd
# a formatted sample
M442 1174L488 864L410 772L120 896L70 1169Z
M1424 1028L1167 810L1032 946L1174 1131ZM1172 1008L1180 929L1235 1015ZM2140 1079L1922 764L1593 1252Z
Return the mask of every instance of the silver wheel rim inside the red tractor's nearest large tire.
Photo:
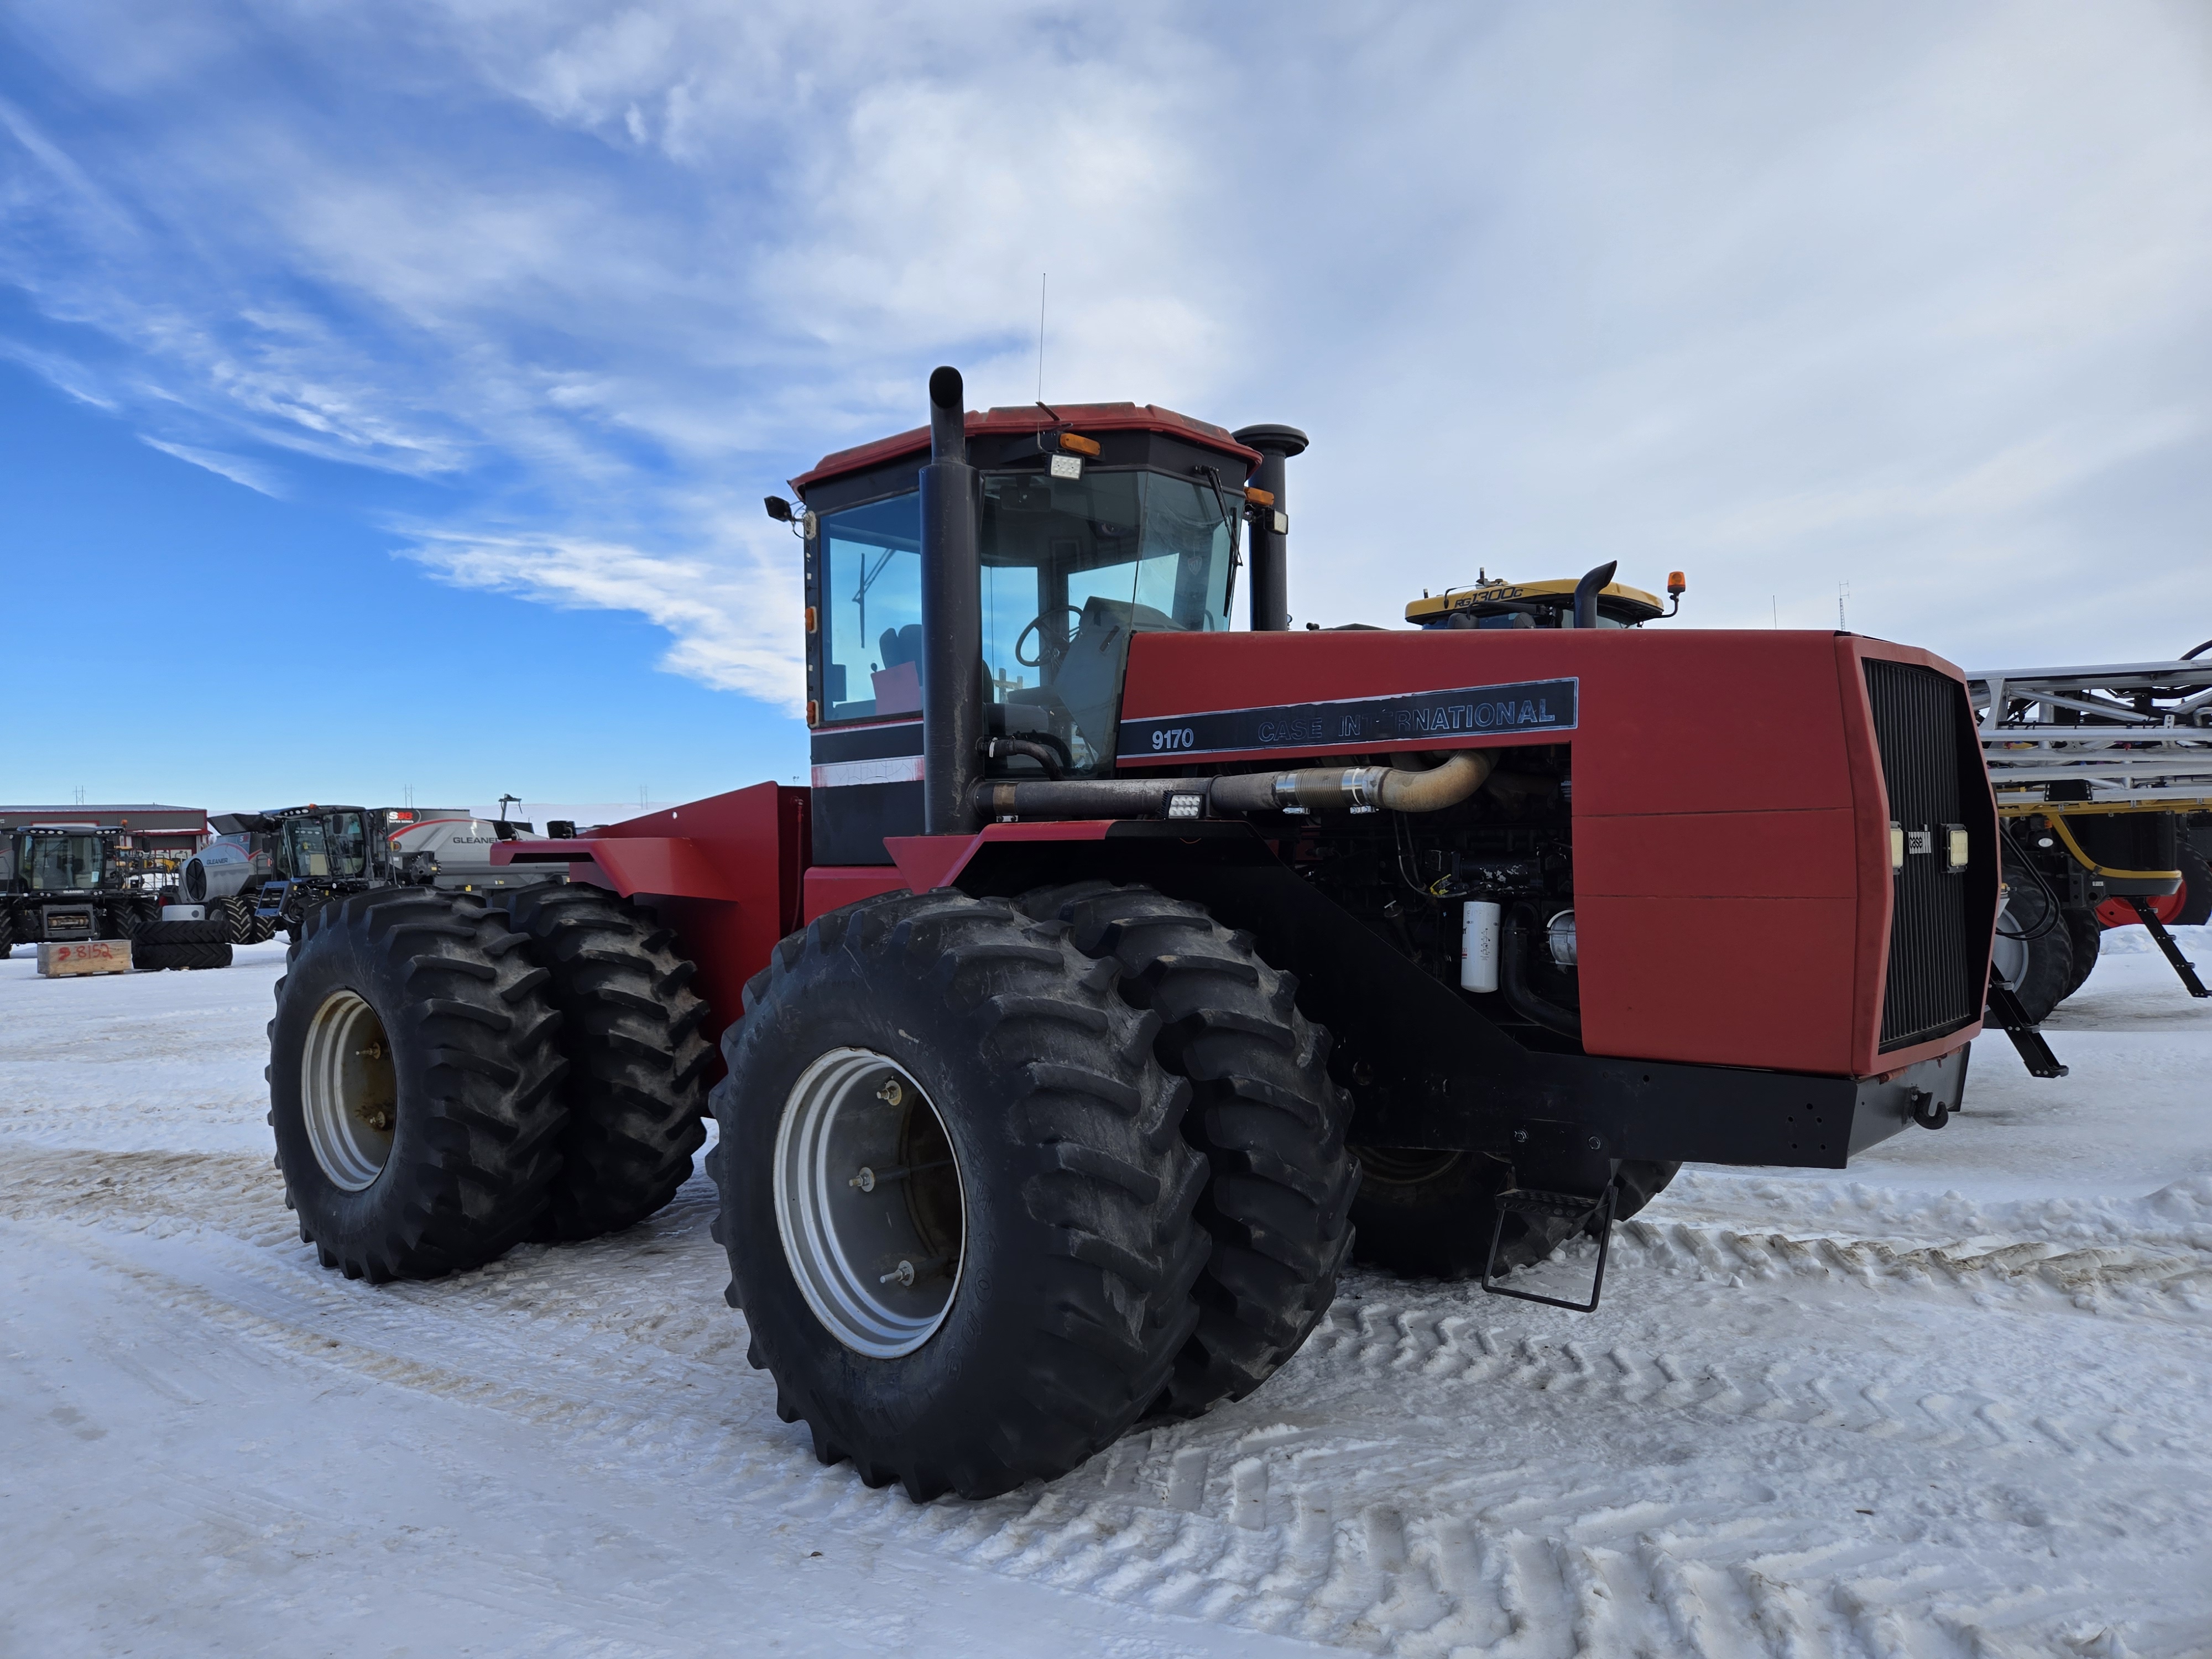
M814 1318L878 1360L916 1352L951 1314L967 1265L967 1188L914 1073L832 1048L783 1102L776 1232Z

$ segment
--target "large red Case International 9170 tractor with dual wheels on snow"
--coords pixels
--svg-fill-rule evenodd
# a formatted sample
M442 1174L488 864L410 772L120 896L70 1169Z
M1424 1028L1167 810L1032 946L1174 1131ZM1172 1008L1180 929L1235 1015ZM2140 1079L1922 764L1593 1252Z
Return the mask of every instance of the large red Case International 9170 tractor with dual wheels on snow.
M1491 1283L1681 1159L1942 1124L1997 907L1953 668L1606 626L1606 571L1493 613L1531 626L1290 633L1298 434L929 394L770 502L812 790L307 914L270 1093L327 1265L639 1219L719 1033L714 1237L779 1411L987 1495L1256 1389L1352 1250Z

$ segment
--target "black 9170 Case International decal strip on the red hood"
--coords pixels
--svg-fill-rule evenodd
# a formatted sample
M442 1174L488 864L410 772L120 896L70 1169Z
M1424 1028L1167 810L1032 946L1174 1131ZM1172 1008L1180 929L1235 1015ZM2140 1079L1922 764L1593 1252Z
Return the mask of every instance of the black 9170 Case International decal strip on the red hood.
M1347 697L1334 703L1150 714L1121 721L1117 759L1128 763L1152 757L1407 743L1422 737L1573 732L1577 684L1575 679L1531 679L1515 686Z

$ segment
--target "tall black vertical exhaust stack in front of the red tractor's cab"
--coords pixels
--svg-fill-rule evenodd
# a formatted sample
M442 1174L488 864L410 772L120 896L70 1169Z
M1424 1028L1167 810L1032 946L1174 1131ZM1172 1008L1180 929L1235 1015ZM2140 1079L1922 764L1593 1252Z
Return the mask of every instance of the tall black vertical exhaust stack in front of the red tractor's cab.
M922 832L971 834L982 781L982 553L960 369L929 376L922 467Z

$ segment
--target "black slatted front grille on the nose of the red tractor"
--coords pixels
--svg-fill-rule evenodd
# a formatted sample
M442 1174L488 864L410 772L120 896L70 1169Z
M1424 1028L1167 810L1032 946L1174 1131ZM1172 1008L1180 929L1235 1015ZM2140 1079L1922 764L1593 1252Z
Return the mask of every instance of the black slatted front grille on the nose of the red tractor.
M1973 710L1960 684L1918 664L1867 659L1874 743L1882 752L1889 821L1907 836L1929 832L1927 852L1907 852L1889 916L1889 989L1882 993L1882 1053L1971 1024L1989 987L1980 982L1982 887L1989 885L1986 807L1966 805L1966 757L1980 768ZM1980 783L1973 776L1971 783ZM1969 825L1973 858L1953 874L1944 827Z

